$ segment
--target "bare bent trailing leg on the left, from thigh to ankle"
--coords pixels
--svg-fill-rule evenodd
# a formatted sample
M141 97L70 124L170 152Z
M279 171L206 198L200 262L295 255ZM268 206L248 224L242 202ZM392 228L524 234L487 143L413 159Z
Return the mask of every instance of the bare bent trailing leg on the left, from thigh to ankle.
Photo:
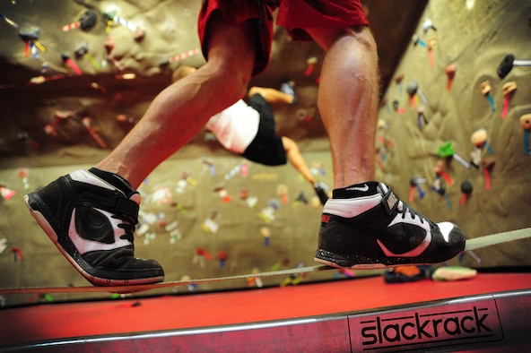
M139 124L96 167L118 173L137 188L211 116L242 98L255 59L255 33L250 24L228 26L220 14L213 16L208 62L162 90Z

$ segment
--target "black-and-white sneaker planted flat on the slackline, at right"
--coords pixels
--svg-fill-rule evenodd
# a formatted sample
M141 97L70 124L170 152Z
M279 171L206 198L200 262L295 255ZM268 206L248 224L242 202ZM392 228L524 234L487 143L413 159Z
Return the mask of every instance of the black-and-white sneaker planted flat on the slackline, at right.
M382 183L336 189L323 210L315 261L328 266L379 269L445 262L465 249L453 223L434 223L413 211Z

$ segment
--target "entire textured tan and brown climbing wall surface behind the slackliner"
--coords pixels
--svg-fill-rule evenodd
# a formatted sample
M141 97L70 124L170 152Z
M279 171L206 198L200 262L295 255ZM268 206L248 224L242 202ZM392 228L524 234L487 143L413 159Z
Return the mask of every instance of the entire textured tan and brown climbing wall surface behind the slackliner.
M420 178L425 195L421 199L418 190L413 190L413 208L432 220L456 221L469 237L529 227L531 159L525 153L525 132L518 121L531 113L531 68L515 67L503 79L497 68L509 53L521 59L531 56L531 5L517 0L432 0L424 9L425 3L420 3L366 2L379 43L384 89L379 110L382 125L375 142L379 147L375 156L377 177L404 200L410 194L410 179ZM152 98L170 82L178 65L204 63L200 53L182 60L179 57L199 45L195 30L198 9L198 1L185 0L93 1L84 5L44 0L0 3L4 16L0 21L0 185L5 192L0 199L0 286L87 283L30 217L22 195L74 168L91 167L121 141ZM93 27L61 30L88 10L99 14ZM144 37L135 39L133 30L117 22L109 26L101 17L105 12L118 13L143 28ZM433 26L427 26L426 20ZM32 53L29 47L26 55L19 34L36 28L40 29L38 41L47 50L37 47ZM416 45L412 34L418 36ZM106 51L109 38L114 39L110 54L118 65ZM427 45L431 39L435 45L430 51ZM83 43L88 43L90 57L75 56L75 49ZM316 108L319 65L313 73L305 74L306 60L315 56L320 63L323 53L313 43L292 42L283 29L275 31L273 49L271 65L252 84L277 87L286 78L297 82L300 104L275 107L277 128L299 142L313 172L330 185L328 142ZM64 53L71 56L81 75L62 61ZM161 65L172 57L177 61ZM456 65L457 72L448 90L445 69L450 64ZM136 77L124 80L124 73L135 73ZM46 81L35 81L40 76ZM491 83L490 96L479 89L487 80ZM413 99L407 92L411 82L418 84ZM518 89L509 100L507 116L502 118L502 86L507 82L516 82ZM425 116L420 127L419 108ZM68 117L57 119L56 112ZM126 115L129 121L118 122L118 115ZM84 116L91 116L105 148L83 127ZM55 133L47 133L46 125L52 125ZM482 128L488 134L488 146L478 150L479 155L483 162L494 161L488 168L489 189L481 163L480 168L466 168L457 161L457 156L471 160L471 152L475 151L471 135ZM440 151L441 146L447 149ZM443 153L448 153L448 146L455 152L453 159ZM140 189L143 204L135 238L137 255L159 260L167 280L312 263L321 208L311 203L313 191L309 185L290 166L265 168L250 162L248 176L237 173L225 178L242 162L205 133L199 133L157 168ZM446 167L452 185L444 176L436 177L434 166L438 162ZM460 185L466 180L474 190L459 205ZM287 186L288 202L277 194L279 185ZM445 193L432 191L433 185L444 187ZM231 201L223 202L221 190L231 196ZM246 192L247 199L242 197ZM301 193L308 203L300 201ZM212 226L216 225L219 228L214 232ZM271 234L268 246L262 237L263 228ZM477 252L482 263L469 255L462 263L473 267L528 266L530 247L528 242L495 246ZM203 265L196 256L198 248L212 254L213 260L204 258ZM229 254L224 267L216 260L220 251ZM452 263L458 263L458 259ZM321 273L309 280L335 275ZM264 282L274 285L282 280ZM238 281L205 284L197 290L246 287L245 281ZM47 299L21 296L7 300L8 304L16 304Z

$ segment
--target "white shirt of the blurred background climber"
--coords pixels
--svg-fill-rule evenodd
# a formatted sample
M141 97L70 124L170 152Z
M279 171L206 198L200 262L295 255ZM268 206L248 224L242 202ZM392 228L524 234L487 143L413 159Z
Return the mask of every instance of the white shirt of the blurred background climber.
M257 136L259 123L257 110L239 99L231 107L212 116L205 127L215 134L224 148L240 154Z

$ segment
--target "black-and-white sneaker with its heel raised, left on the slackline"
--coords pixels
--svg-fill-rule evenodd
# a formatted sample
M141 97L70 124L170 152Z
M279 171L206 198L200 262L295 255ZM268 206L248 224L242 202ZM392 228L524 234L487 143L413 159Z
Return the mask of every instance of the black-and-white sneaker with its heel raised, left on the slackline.
M92 284L164 280L159 263L134 256L140 195L122 177L96 168L77 170L24 201L59 251Z

